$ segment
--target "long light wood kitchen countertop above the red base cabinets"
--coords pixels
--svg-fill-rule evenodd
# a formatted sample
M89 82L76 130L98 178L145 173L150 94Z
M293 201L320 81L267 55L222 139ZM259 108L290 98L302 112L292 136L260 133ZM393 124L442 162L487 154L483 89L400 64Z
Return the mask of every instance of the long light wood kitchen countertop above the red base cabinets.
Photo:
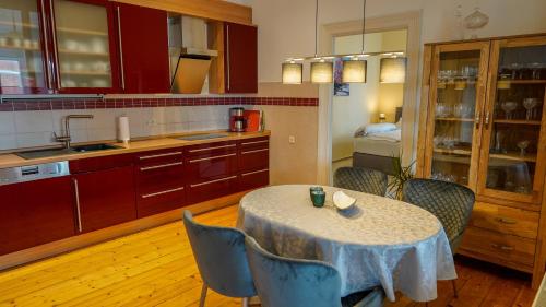
M215 138L215 139L206 139L206 140L194 140L194 141L183 141L177 140L173 138L185 137L185 135L194 135L194 134L209 134L209 133L227 133L225 138ZM74 153L74 154L66 154L66 155L56 155L48 157L38 157L32 160L25 160L20 157L16 154L1 154L0 155L0 168L7 167L16 167L24 165L35 165L41 163L49 162L58 162L58 161L70 161L70 160L80 160L87 157L97 157L97 156L107 156L115 154L126 154L126 153L135 153L135 152L144 152L144 151L154 151L154 150L164 150L164 149L173 149L188 145L198 145L213 142L223 142L223 141L235 141L235 140L244 140L250 138L259 138L270 135L270 131L263 132L226 132L226 131L206 131L206 132L195 132L195 133L182 133L182 134L173 134L168 137L153 138L153 139L144 139L136 140L130 142L128 145L123 143L116 142L106 142L107 144L119 146L120 149L98 151L98 152L88 152L88 153ZM78 144L74 144L78 145Z

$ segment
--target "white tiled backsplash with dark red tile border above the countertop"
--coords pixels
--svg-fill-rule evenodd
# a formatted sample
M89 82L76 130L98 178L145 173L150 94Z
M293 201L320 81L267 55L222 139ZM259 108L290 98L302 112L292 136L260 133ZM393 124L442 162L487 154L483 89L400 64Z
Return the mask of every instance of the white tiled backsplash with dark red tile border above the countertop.
M116 98L90 101L4 101L0 104L0 150L55 144L54 131L64 133L62 118L91 114L93 119L71 121L73 142L116 139L116 119L130 119L131 137L227 129L228 109L244 105L317 106L317 98Z

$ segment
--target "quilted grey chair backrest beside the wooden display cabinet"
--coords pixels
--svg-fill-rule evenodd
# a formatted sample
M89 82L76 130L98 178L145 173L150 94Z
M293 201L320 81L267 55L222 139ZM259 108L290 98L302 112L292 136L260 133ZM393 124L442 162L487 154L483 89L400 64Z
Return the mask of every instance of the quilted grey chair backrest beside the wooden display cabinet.
M411 179L404 185L402 200L435 214L443 225L454 253L474 208L474 192L461 185Z

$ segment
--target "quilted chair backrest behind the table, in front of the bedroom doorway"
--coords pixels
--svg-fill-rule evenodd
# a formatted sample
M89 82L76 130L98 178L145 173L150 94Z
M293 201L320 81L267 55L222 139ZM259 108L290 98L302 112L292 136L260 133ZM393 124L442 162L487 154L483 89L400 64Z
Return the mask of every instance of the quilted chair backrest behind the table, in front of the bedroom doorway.
M334 187L384 197L387 174L364 167L340 167L334 174Z

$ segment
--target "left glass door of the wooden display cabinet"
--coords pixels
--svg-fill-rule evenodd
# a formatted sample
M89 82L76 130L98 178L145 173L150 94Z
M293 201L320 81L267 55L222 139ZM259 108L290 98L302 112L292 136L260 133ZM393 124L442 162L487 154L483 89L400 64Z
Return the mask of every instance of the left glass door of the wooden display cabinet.
M489 43L435 47L425 176L475 190Z

